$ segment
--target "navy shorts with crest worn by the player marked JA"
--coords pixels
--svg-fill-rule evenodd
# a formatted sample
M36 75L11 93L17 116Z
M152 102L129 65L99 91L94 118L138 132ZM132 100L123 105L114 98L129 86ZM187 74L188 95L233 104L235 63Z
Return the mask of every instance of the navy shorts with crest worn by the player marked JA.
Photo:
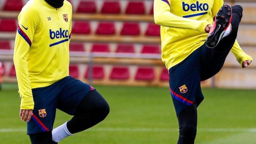
M56 108L74 115L83 98L92 90L92 86L67 76L58 82L32 89L34 110L30 122L27 122L27 134L52 131Z

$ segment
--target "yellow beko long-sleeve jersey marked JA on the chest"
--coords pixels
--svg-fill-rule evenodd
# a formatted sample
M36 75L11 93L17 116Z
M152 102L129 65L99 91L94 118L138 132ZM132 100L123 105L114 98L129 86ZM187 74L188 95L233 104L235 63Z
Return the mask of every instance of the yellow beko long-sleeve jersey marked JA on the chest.
M21 109L33 109L33 88L46 87L68 76L72 6L54 8L29 0L18 16L14 65Z

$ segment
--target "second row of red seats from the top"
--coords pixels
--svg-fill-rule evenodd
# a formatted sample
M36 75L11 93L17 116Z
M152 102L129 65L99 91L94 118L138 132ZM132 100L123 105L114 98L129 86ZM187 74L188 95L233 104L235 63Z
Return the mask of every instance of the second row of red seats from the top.
M17 29L16 20L3 19L0 21L0 31L14 32ZM90 22L75 21L72 28L73 34L90 34L91 26ZM114 35L116 34L116 27L114 22L100 22L95 32L97 35ZM121 35L133 35L137 36L141 34L140 24L138 23L124 23ZM160 26L150 23L148 24L146 36L160 36Z

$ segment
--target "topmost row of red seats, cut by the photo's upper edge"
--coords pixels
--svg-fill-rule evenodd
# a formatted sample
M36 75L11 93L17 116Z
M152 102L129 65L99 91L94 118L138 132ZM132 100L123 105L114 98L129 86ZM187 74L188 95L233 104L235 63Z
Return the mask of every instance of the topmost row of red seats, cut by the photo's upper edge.
M71 0L69 0L71 1ZM71 1L72 3L72 1ZM22 0L6 0L4 4L3 10L8 11L20 11L24 5ZM121 6L118 0L106 0L103 3L100 13L102 14L120 14ZM78 4L78 8L76 10L78 13L96 13L97 12L97 4L95 0L81 0ZM145 14L145 4L142 1L128 2L125 10L126 14ZM150 10L150 14L153 14L153 5Z

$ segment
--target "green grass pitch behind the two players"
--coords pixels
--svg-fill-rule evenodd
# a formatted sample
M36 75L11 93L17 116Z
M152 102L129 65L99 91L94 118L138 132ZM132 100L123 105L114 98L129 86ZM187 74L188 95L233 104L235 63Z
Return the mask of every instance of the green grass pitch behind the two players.
M0 144L29 144L16 84L0 91ZM60 144L176 144L178 122L168 88L95 86L110 104L100 124ZM204 89L196 144L256 144L256 91ZM71 116L57 111L54 127ZM42 138L43 139L43 138Z

